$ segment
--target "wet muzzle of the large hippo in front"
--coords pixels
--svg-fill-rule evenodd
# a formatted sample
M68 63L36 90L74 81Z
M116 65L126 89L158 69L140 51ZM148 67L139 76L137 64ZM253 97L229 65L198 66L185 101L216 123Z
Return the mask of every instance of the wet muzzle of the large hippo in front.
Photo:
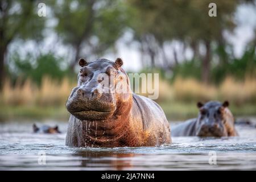
M69 113L80 120L104 120L116 109L112 93L100 93L98 89L77 86L71 92L66 104Z

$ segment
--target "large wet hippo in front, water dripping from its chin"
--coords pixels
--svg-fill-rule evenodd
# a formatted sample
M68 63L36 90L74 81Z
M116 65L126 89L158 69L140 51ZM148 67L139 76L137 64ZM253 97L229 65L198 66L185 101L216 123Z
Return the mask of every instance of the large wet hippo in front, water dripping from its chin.
M66 104L71 114L67 146L141 147L171 143L170 125L162 108L131 91L122 59L80 59L79 65L78 84ZM126 92L117 92L117 85Z

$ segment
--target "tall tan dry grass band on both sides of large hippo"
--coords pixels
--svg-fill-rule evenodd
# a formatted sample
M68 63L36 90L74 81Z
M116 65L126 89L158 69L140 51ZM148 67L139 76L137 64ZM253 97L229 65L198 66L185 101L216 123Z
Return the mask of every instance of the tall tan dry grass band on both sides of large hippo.
M18 80L11 86L7 80L0 94L3 105L26 106L56 106L64 105L65 101L75 87L67 78L61 82L44 77L39 88L30 80L24 84ZM159 80L158 102L194 102L209 100L229 100L241 105L256 102L256 78L247 77L245 81L238 82L232 77L227 77L220 85L204 85L193 78L177 78L174 84Z

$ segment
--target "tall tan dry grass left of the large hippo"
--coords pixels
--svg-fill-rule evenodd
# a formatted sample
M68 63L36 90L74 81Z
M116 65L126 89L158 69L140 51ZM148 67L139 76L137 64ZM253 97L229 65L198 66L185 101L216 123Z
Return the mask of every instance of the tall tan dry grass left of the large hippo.
M74 86L67 78L57 82L44 77L40 88L30 80L26 80L24 84L21 84L21 81L18 80L14 86L11 86L10 81L6 80L0 94L0 101L4 105L11 106L62 105L67 101Z

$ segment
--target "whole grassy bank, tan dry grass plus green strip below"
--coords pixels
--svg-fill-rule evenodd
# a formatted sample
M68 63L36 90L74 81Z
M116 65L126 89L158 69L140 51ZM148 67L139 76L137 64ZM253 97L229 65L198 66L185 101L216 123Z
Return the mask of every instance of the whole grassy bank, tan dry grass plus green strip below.
M76 86L67 78L58 82L43 78L40 87L26 80L11 85L6 80L0 93L0 121L7 118L59 118L68 119L65 102ZM147 94L143 94L147 96ZM220 85L204 85L192 78L177 78L174 84L159 80L159 98L156 100L168 119L188 119L195 117L197 101L229 100L234 115L256 114L256 78L247 77L236 81L227 77Z

